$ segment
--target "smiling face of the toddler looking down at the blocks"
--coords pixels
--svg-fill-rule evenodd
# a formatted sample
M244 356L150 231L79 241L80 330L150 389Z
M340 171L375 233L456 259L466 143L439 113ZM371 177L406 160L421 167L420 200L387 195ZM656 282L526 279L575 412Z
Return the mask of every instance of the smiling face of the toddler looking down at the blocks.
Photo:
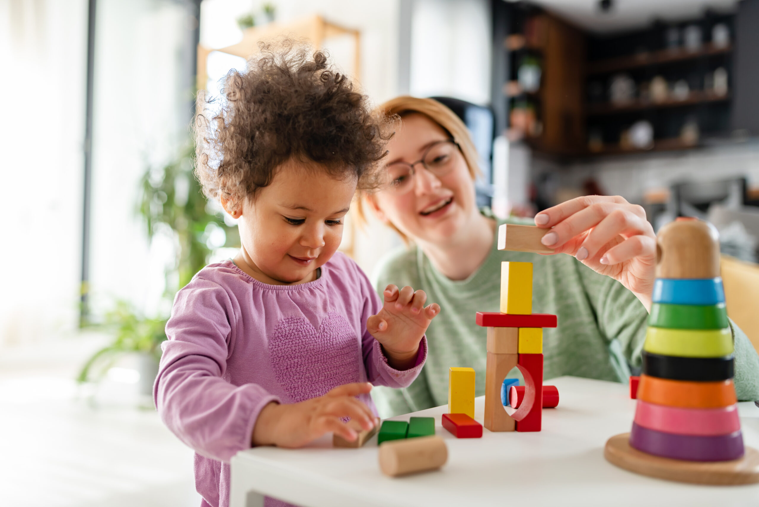
M340 246L355 191L355 178L337 180L315 162L282 164L272 183L242 206L238 227L248 274L269 284L316 279Z

